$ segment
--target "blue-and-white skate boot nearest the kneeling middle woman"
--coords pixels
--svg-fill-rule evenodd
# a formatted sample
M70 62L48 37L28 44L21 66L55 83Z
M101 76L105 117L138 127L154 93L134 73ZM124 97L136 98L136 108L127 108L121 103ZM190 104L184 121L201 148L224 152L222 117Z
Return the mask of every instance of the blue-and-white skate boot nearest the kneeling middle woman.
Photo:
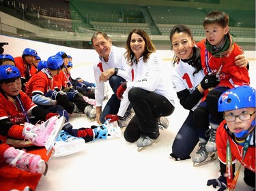
M117 121L109 123L106 120L104 124L96 126L94 130L94 140L96 139L113 139L115 137L121 137L121 129L118 126Z

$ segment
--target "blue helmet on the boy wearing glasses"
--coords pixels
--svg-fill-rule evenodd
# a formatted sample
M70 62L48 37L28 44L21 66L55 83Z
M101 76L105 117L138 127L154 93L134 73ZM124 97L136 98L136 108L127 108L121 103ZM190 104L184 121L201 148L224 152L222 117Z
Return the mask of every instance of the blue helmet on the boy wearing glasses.
M250 86L238 86L227 90L218 99L218 111L244 107L255 107L255 89Z

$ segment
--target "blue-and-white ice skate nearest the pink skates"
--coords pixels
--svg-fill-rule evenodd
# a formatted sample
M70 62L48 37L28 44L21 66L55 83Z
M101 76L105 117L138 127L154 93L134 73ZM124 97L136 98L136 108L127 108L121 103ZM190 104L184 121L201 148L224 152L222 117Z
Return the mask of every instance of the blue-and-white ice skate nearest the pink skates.
M53 157L58 158L80 152L86 147L85 139L69 135L66 131L61 130L53 146Z

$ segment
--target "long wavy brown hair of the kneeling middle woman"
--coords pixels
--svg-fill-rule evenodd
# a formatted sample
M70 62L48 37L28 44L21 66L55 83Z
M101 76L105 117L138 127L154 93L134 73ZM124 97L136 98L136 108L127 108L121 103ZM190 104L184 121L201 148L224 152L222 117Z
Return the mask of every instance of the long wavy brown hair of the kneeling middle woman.
M126 60L128 60L128 63L130 63L130 65L132 65L132 58L134 57L134 53L132 52L132 49L130 48L130 40L132 38L133 33L140 35L143 38L143 40L145 41L145 51L143 52L143 61L146 63L148 58L150 58L150 54L152 54L152 52L156 52L156 48L155 48L154 44L152 43L150 37L142 29L133 29L132 31L130 31L128 38L126 40L126 53L125 53Z

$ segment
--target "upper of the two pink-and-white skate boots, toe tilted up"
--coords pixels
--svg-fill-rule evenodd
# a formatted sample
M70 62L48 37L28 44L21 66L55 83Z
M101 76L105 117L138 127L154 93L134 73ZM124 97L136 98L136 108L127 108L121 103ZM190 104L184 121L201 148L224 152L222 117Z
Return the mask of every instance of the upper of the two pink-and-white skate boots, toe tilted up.
M36 126L25 122L23 128L23 136L25 139L31 141L34 145L44 146L48 140L49 135L51 135L54 129L54 124L57 119L57 116L53 116L46 122Z

